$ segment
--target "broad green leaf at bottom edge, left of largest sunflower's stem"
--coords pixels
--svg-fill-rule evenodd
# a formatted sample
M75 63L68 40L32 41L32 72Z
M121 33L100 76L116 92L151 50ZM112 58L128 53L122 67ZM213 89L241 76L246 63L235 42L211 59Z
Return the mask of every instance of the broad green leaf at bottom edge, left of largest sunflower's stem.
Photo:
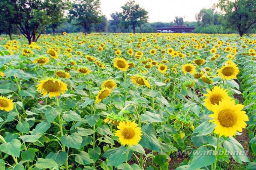
M190 169L198 169L214 163L215 156L212 150L200 146L196 151L193 153Z

